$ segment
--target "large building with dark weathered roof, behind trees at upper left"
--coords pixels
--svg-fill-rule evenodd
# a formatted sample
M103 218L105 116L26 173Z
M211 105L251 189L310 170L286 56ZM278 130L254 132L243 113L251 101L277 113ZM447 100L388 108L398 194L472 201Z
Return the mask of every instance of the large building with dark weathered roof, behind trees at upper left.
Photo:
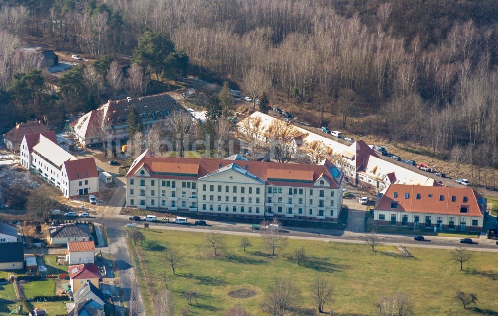
M84 146L101 146L102 130L106 131L107 147L113 149L126 144L128 123L126 118L131 107L135 107L142 120L143 131L157 123L168 120L175 113L188 113L169 94L156 94L123 100L109 100L106 104L83 115L70 124L71 133Z

